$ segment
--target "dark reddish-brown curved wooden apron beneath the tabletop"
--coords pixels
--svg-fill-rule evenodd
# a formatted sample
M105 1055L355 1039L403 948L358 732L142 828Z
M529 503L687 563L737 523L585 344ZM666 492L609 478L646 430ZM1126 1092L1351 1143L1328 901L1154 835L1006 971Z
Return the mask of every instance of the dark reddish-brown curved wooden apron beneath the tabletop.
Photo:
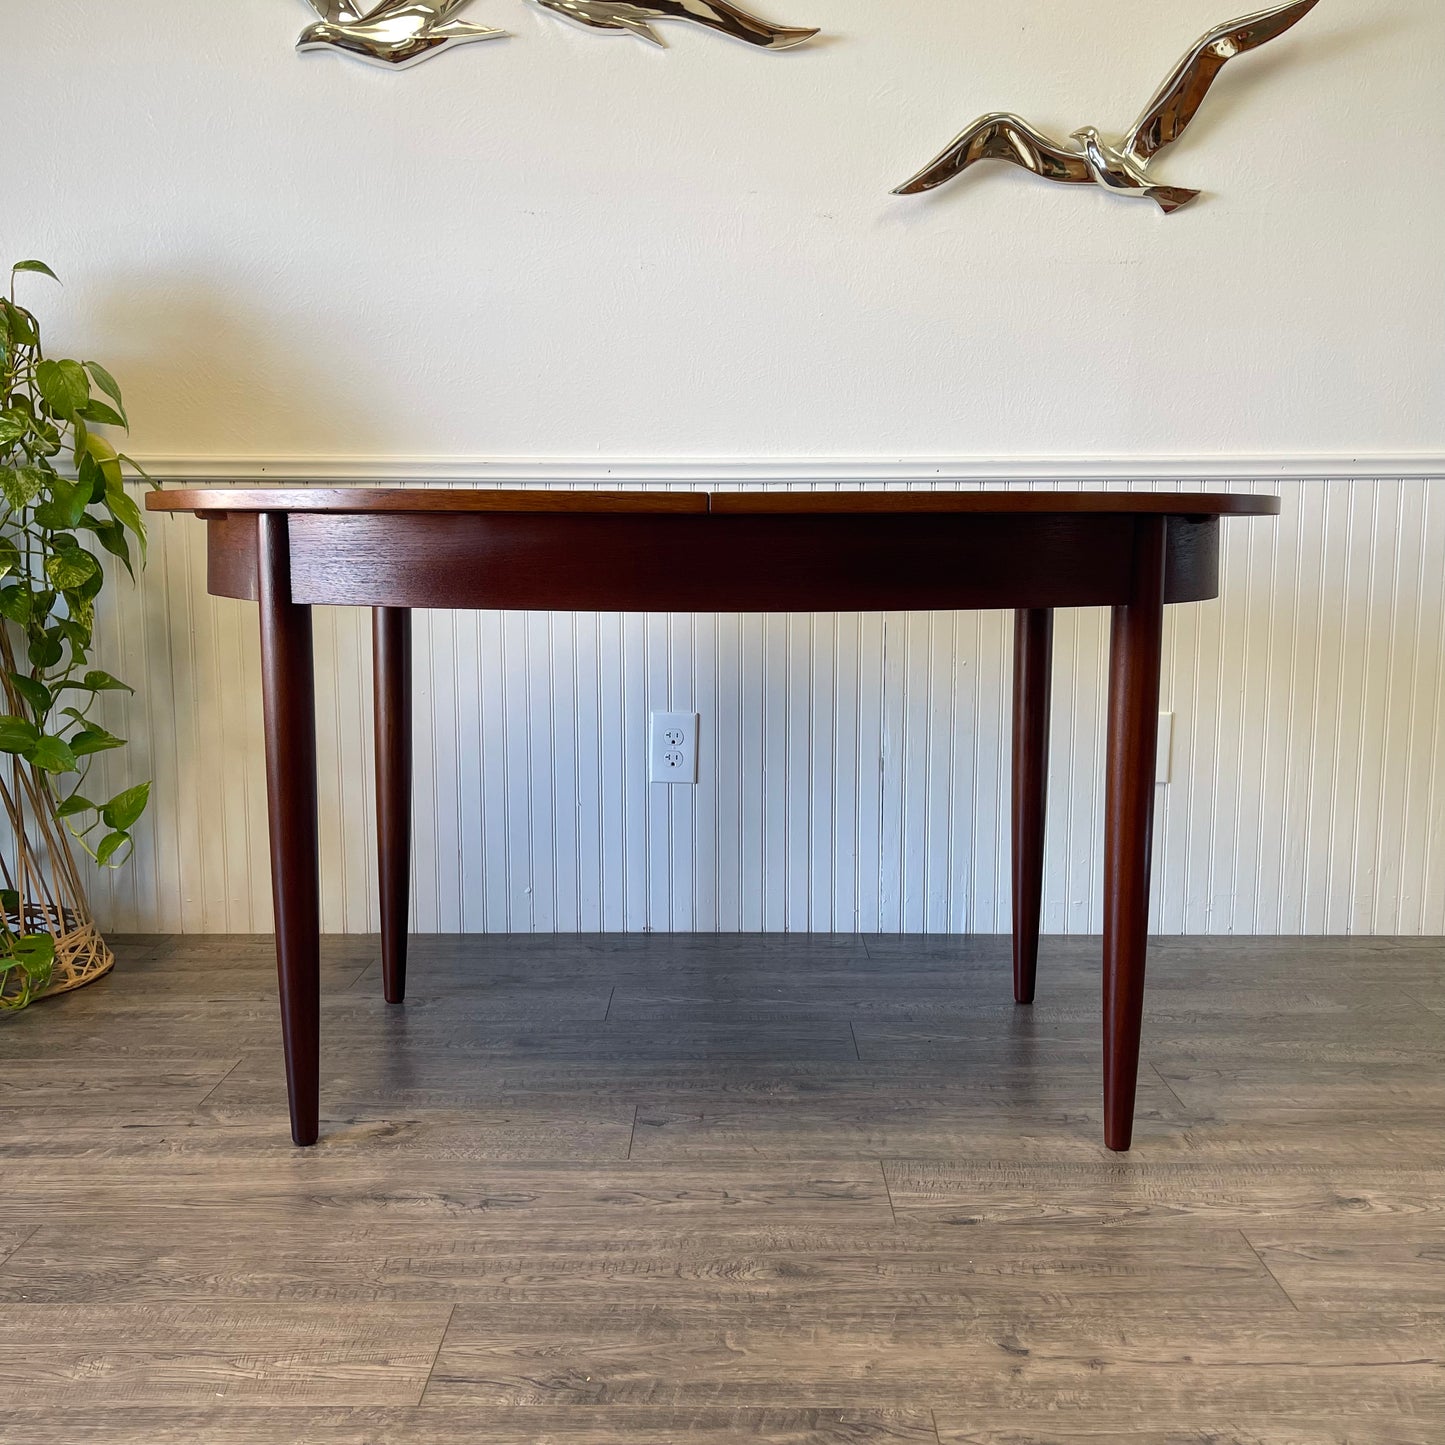
M256 513L207 513L210 590L254 600ZM1147 520L1147 519L1144 519ZM1091 607L1130 514L288 514L292 601L556 611ZM1218 595L1218 517L1169 517L1165 601Z

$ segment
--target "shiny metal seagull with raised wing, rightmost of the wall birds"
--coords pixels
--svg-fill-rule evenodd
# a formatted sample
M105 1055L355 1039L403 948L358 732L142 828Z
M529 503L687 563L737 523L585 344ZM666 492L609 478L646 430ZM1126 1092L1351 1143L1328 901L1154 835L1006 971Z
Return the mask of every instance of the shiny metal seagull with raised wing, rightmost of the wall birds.
M1144 172L1149 162L1178 140L1198 114L1214 78L1224 66L1298 25L1319 0L1293 0L1259 14L1231 20L1211 30L1175 66L1120 146L1111 146L1092 126L1075 130L1065 146L1051 140L1026 120L994 111L975 120L936 160L893 194L918 195L951 181L977 160L1012 160L1045 181L1094 182L1116 195L1143 197L1166 215L1188 205L1199 192L1155 185Z

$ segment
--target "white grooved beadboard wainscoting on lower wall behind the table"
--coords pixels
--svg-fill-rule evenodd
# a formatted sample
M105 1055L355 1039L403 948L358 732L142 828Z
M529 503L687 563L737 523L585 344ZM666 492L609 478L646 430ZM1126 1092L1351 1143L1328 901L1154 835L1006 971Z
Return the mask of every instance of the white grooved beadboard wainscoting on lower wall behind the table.
M1277 490L1285 514L1227 520L1222 601L1169 611L1156 928L1445 933L1445 486L1157 486ZM315 620L322 922L370 931L370 614ZM150 776L155 802L95 881L101 923L269 929L256 614L207 595L198 522L155 519L103 630L137 686L108 780ZM415 926L1004 931L1010 631L418 613ZM1100 928L1105 643L1103 611L1059 614L1051 932ZM702 715L696 788L649 785L649 709Z

